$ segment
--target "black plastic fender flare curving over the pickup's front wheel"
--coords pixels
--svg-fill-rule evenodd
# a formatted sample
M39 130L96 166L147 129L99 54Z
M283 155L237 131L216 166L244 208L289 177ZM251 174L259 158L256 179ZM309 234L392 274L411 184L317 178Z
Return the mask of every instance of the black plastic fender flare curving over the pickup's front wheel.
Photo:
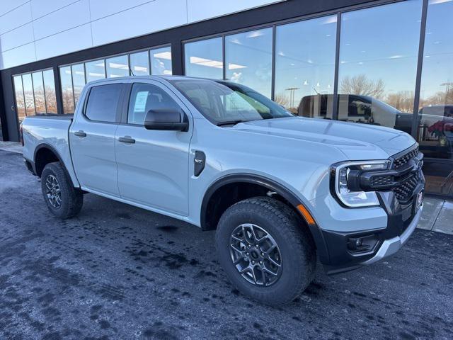
M306 205L297 198L292 191L282 186L280 183L273 181L272 179L268 179L264 176L256 175L256 174L230 174L217 179L207 188L205 196L202 200L201 211L200 211L200 223L202 229L205 229L206 225L206 210L207 210L207 203L210 201L212 195L217 191L217 189L225 186L226 184L230 183L253 183L268 188L270 191L275 191L278 195L282 196L292 205L292 207L299 212L299 215L305 220L305 217L302 215L302 212L299 211L297 208L298 205L304 206L305 209ZM307 209L308 210L308 209ZM306 220L305 220L306 221ZM329 262L329 254L327 244L324 240L323 233L321 229L316 224L316 220L314 224L310 224L306 222L306 225L309 227L311 236L314 239L316 244L316 250L318 252L319 260L321 263L328 263Z

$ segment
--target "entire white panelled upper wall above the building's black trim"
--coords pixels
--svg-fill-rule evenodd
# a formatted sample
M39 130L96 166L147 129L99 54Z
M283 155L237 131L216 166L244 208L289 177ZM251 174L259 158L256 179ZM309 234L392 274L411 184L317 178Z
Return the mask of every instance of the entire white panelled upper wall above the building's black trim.
M0 69L278 1L0 0Z

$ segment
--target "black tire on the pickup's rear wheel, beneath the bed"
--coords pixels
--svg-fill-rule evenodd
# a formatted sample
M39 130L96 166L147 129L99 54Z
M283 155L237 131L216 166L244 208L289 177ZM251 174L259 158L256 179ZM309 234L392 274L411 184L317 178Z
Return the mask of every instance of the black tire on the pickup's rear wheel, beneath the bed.
M48 188L49 183L52 189ZM55 186L52 187L53 184ZM72 186L71 179L59 162L49 163L44 167L41 174L41 189L47 208L56 217L62 219L74 217L84 204L84 194L80 189ZM57 196L59 199L53 199Z

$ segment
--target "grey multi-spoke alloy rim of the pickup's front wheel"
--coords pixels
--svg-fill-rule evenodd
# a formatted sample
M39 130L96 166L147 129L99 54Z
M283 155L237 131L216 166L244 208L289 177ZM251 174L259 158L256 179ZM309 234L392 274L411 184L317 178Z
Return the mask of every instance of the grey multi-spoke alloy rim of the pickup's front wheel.
M282 273L282 255L272 235L263 227L244 223L231 232L231 261L253 285L273 285Z

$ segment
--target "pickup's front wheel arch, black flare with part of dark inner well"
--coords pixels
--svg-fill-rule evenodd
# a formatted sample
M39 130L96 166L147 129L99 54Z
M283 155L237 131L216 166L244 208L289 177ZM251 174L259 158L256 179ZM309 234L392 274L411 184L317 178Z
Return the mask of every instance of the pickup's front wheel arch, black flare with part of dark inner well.
M316 250L319 255L319 259L322 263L327 263L329 256L328 256L328 249L326 246L326 242L323 239L323 234L319 229L319 226L316 224L315 221L311 223L306 220L306 217L302 214L301 210L299 210L299 206L302 205L302 209L309 211L306 208L306 205L301 202L301 200L294 194L292 191L289 191L288 188L282 186L282 184L273 181L272 179L268 179L266 177L256 175L256 174L231 174L226 175L214 183L207 189L205 196L202 200L201 211L200 211L200 225L203 230L212 230L217 228L217 222L219 219L219 213L214 211L214 216L210 218L210 212L212 207L210 205L213 204L213 200L222 193L222 189L228 188L229 186L241 185L241 183L247 183L253 186L257 186L263 188L265 190L265 194L270 191L276 193L277 196L283 198L295 211L297 211L297 215L301 218L302 222L305 222L305 225L309 228L310 234L314 239L316 244ZM226 191L226 194L228 192ZM264 196L264 195L261 195ZM234 202L236 203L236 202ZM233 204L234 204L233 203ZM228 208L228 207L226 207ZM226 210L226 209L224 209ZM223 210L223 211L224 211ZM222 209L221 209L222 211ZM223 212L222 211L222 212ZM221 215L221 214L220 214Z

